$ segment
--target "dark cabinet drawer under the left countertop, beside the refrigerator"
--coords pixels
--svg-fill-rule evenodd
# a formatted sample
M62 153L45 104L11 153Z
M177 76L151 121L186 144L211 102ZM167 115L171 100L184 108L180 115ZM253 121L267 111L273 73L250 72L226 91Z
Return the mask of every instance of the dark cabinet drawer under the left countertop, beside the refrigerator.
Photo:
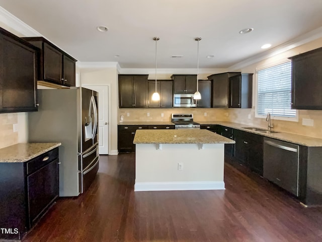
M27 163L27 175L35 172L46 164L58 158L58 148L50 150Z

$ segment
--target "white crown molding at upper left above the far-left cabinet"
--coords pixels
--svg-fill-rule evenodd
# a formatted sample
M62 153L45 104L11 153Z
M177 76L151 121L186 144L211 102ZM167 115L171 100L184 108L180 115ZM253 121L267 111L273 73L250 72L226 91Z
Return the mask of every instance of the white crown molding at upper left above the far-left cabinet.
M0 22L14 29L23 36L43 36L29 25L18 19L16 16L9 13L4 8L0 7ZM22 37L22 36L20 36Z

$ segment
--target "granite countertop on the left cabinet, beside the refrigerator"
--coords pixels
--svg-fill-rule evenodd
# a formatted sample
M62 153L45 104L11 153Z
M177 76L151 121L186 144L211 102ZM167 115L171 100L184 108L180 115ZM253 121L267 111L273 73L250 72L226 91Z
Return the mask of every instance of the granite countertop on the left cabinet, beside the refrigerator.
M52 150L61 143L26 143L0 149L0 162L25 162Z

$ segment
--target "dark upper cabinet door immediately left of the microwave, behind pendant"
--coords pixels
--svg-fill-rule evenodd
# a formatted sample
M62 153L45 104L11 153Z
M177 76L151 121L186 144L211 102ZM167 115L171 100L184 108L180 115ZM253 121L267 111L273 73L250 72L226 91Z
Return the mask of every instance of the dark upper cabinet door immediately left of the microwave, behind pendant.
M156 81L156 91L160 100L153 101L152 94L155 92L155 81L148 81L149 103L148 107L173 107L173 81Z

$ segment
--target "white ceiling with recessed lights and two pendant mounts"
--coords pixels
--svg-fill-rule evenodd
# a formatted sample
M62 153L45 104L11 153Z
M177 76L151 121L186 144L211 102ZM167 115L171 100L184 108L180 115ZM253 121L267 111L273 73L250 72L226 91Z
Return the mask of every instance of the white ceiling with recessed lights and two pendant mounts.
M228 68L321 27L321 0L0 0L81 62L121 68ZM108 27L99 32L98 26ZM254 28L248 34L241 29ZM172 55L183 55L172 58ZM207 58L213 55L212 58ZM118 56L118 57L116 57Z

